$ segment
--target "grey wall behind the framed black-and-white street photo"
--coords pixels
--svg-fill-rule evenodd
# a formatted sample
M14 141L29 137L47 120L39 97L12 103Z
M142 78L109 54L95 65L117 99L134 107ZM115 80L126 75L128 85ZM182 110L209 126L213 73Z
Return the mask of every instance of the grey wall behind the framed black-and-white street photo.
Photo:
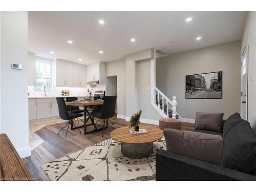
M216 71L222 71L222 99L185 99L186 75ZM156 87L177 97L182 118L195 119L198 111L223 112L224 118L240 113L240 40L157 59Z

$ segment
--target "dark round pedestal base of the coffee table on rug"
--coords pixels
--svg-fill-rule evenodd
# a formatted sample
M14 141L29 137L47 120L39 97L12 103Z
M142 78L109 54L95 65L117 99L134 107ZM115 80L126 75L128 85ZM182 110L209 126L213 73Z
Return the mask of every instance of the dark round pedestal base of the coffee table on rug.
M153 142L139 144L121 143L121 152L125 157L148 157L153 153Z

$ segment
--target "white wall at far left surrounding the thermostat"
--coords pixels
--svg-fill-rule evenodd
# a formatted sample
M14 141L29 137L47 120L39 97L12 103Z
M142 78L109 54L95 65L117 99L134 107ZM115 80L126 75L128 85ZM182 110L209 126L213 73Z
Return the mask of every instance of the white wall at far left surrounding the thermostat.
M28 123L28 13L1 13L1 133L20 157L31 155ZM22 70L11 69L21 63Z

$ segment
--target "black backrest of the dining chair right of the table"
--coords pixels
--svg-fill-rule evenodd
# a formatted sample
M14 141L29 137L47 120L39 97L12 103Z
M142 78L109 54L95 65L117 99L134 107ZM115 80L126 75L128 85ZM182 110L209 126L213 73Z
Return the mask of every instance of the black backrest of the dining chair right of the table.
M108 119L113 117L116 114L116 95L115 96L105 96L102 110L101 118Z

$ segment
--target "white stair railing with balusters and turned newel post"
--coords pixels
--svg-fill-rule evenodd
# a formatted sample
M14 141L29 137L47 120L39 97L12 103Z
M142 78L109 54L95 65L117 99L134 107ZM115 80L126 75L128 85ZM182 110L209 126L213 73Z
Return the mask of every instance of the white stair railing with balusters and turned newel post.
M171 101L156 87L155 96L154 107L163 117L169 117L169 109L172 109L172 118L176 118L177 115L180 117L176 112L176 96L173 96L173 100Z

